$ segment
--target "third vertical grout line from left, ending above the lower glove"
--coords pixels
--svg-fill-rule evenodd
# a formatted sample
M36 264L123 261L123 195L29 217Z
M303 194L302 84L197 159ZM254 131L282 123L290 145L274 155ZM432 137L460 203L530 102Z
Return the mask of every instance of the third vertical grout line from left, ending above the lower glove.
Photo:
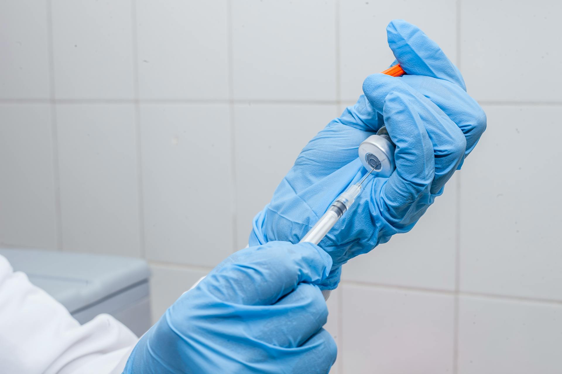
M236 220L236 211L238 206L238 189L236 186L236 128L234 124L234 58L233 58L233 18L232 18L232 0L226 2L226 33L228 35L227 43L227 61L228 61L228 116L230 122L230 209L232 220L232 251L235 252L238 247L238 227Z

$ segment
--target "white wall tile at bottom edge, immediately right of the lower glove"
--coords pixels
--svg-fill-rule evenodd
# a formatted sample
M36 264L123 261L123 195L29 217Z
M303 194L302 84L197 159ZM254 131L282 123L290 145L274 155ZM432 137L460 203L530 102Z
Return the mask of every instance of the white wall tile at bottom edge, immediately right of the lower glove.
M344 285L344 373L453 369L454 296Z

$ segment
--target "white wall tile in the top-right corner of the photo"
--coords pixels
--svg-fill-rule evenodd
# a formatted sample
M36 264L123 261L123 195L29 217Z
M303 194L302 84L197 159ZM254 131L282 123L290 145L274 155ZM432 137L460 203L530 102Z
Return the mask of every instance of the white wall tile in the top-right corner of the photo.
M478 100L562 100L562 3L462 1L461 66Z

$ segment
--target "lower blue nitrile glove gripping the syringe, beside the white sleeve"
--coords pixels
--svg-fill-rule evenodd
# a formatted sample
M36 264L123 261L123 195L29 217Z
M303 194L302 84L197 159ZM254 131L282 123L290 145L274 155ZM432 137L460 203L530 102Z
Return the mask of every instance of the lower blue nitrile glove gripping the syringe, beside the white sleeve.
M331 266L311 243L234 253L140 338L124 373L328 373L337 348L315 284Z

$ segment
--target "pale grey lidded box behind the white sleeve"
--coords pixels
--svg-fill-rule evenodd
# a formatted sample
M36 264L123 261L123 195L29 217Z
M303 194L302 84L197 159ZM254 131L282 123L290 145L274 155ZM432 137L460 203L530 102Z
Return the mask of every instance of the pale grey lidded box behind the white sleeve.
M0 249L13 270L23 271L63 304L81 324L108 313L138 336L151 326L146 261L88 253Z

